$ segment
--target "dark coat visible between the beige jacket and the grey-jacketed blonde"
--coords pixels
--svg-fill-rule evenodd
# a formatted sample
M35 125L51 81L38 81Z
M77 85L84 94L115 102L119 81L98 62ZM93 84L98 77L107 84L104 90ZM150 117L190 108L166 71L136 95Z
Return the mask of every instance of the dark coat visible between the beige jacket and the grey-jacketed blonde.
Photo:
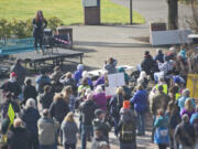
M54 117L59 124L62 124L68 111L68 104L64 99L53 102L50 107L51 116Z

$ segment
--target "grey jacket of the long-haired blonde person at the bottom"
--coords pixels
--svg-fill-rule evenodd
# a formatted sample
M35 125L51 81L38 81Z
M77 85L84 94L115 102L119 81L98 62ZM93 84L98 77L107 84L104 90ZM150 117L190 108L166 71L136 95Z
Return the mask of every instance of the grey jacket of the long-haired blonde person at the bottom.
M67 143L76 143L77 142L77 132L78 127L76 123L72 121L63 121L62 123L62 131L63 131L63 145Z

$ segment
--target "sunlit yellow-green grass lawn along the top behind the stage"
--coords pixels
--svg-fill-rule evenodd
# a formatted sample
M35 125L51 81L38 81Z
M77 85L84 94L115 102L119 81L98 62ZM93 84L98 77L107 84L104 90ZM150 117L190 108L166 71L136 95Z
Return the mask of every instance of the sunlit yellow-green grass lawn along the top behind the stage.
M84 22L81 0L0 0L0 18L11 20L34 18L37 10L43 10L45 18L57 17L65 24ZM129 23L129 9L101 0L101 23ZM144 23L144 18L133 12L134 23Z

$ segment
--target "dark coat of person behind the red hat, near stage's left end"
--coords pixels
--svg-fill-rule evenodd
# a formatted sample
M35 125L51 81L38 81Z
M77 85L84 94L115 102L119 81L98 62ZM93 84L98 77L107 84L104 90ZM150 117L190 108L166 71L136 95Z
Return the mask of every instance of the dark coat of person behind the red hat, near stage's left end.
M13 66L11 66L10 71L14 72L18 75L16 81L20 85L23 85L26 76L26 70L21 64L16 63Z

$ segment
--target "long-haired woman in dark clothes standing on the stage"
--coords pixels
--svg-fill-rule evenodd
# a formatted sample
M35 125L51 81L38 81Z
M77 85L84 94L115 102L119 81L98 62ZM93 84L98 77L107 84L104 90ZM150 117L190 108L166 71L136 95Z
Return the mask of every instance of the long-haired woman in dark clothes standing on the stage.
M43 35L44 35L44 28L47 26L47 21L43 17L43 12L38 10L36 12L35 18L33 19L33 38L34 38L34 46L35 52L37 51L37 43L40 43L40 49L42 50L42 53L44 54L43 50Z

